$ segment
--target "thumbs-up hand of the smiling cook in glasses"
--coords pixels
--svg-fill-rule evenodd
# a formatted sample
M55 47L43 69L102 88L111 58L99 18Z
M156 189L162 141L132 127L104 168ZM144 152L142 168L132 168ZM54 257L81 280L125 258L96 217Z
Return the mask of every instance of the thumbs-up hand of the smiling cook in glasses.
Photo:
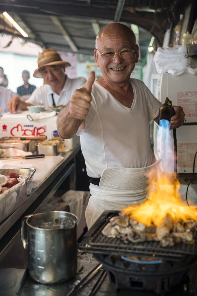
M79 120L84 120L86 118L86 115L90 107L90 102L92 100L91 90L94 81L95 73L90 72L84 86L80 89L76 89L73 92L71 100L68 104L69 112L73 118Z

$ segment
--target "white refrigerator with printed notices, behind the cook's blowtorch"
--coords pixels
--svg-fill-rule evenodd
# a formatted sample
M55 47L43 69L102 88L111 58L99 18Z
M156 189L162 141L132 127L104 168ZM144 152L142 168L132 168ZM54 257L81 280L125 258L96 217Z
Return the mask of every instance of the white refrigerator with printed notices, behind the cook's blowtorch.
M185 112L185 124L189 125L176 129L177 172L192 173L194 156L197 151L197 76L161 74L158 77L154 95L162 103L168 97L173 105L181 106ZM173 139L172 131L171 137ZM156 140L153 142L155 143ZM171 166L169 170L173 169L172 164ZM195 172L197 172L197 162Z

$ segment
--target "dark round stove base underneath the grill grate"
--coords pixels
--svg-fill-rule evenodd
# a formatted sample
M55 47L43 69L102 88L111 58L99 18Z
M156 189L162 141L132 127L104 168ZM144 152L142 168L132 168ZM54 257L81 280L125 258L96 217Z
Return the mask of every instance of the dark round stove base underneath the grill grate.
M108 273L110 283L114 289L134 289L139 291L152 291L159 295L165 295L171 291L175 285L189 283L188 273L190 267L196 265L196 262L185 264L180 262L179 268L170 267L166 270L166 262L160 264L141 264L130 263L122 260L120 256L107 256L103 254L94 254L98 262L102 263L103 268ZM172 262L171 262L172 263Z

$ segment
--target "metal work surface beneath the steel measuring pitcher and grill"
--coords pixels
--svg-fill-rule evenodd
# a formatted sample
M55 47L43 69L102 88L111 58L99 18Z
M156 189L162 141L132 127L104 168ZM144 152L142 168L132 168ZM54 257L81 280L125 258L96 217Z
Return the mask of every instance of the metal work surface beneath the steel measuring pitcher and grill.
M78 256L78 270L82 269L82 272L76 275L71 280L56 284L47 285L39 284L32 280L28 276L27 269L19 268L5 268L0 269L0 283L1 283L1 296L66 296L68 292L73 288L73 284L76 280L83 279L96 265L97 260L92 256L92 254L79 254ZM196 268L196 267L195 267ZM196 270L195 268L191 271L195 273L193 280L194 287L196 284ZM79 291L76 291L73 296L88 296L88 293L95 285L97 279L100 276L101 271L99 271L92 279L90 279L87 284L85 284ZM170 292L166 293L166 296L195 296L191 284L185 285L180 284L179 286L172 287ZM116 291L113 284L110 282L108 274L105 276L102 283L96 290L96 296L158 296L152 291L143 291L140 289L120 289Z

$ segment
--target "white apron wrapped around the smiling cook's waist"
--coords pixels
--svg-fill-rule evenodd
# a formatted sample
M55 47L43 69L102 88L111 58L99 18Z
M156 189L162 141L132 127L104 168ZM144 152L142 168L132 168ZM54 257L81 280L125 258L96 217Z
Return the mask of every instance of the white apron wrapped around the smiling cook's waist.
M105 210L124 210L129 205L147 200L147 174L161 162L148 167L108 167L100 178L99 186L90 183L89 202L85 216L88 229Z

